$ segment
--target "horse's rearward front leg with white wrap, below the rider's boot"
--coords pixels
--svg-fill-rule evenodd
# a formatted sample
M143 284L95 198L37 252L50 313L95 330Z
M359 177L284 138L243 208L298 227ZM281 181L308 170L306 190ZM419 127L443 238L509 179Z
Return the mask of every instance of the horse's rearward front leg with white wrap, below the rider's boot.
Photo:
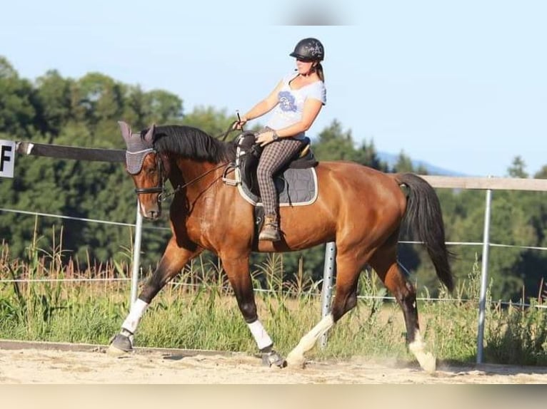
M256 346L262 354L262 362L267 366L286 366L285 359L273 350L273 341L259 321L254 301L253 283L249 273L249 256L221 257L226 276L236 295L239 311L249 326L249 330L256 341Z

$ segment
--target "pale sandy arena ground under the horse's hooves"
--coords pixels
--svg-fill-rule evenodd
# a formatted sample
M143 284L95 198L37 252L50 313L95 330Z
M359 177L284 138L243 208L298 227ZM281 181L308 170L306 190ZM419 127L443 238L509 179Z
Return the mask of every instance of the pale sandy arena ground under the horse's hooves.
M262 366L259 358L244 354L138 350L124 358L112 358L101 347L80 346L75 349L79 351L63 351L55 346L36 348L23 343L10 344L6 348L0 343L0 383L547 383L547 368L537 367L488 364L480 368L439 366L436 373L428 374L416 366L401 367L395 363L352 359L309 362L306 368L280 369Z

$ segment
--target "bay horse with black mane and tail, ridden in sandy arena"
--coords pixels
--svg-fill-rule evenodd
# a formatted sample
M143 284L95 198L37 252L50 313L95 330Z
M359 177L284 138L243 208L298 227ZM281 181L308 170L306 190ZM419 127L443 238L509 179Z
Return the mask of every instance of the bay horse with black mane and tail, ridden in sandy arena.
M132 133L120 121L126 142L126 168L134 180L139 211L161 216L166 181L173 187L169 219L172 236L161 260L109 344L108 353L133 351L134 333L154 296L204 250L221 260L239 310L269 366L300 366L304 354L357 303L358 278L371 266L403 311L406 343L424 371L436 370L436 358L421 338L416 289L399 268L398 237L403 226L423 242L436 274L448 291L453 276L446 249L441 205L433 187L411 172L387 173L351 161L318 161L316 200L279 209L282 238L259 241L254 205L224 182L234 162L234 141L219 140L185 125L151 125ZM405 222L406 224L403 224ZM249 272L251 252L293 252L318 244L336 244L336 292L330 312L283 358L259 321Z

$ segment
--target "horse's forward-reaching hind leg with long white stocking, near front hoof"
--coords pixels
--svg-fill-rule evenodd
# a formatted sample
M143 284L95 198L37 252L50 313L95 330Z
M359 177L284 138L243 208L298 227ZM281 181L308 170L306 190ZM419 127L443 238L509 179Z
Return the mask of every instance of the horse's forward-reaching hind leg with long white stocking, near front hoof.
M357 257L357 258L356 258ZM336 255L336 294L331 313L327 314L311 331L301 338L298 345L287 356L290 366L303 366L304 353L316 344L341 317L357 304L357 284L361 267L366 256L358 257L355 252L338 252Z

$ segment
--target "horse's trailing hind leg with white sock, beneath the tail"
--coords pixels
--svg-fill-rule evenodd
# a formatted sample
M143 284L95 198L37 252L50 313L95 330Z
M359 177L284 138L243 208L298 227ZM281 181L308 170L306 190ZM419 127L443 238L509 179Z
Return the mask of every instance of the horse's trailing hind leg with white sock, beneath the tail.
M424 371L434 372L436 369L435 357L425 351L425 345L421 339L416 289L398 267L395 245L378 249L378 252L371 258L370 264L403 310L408 349L416 356Z

